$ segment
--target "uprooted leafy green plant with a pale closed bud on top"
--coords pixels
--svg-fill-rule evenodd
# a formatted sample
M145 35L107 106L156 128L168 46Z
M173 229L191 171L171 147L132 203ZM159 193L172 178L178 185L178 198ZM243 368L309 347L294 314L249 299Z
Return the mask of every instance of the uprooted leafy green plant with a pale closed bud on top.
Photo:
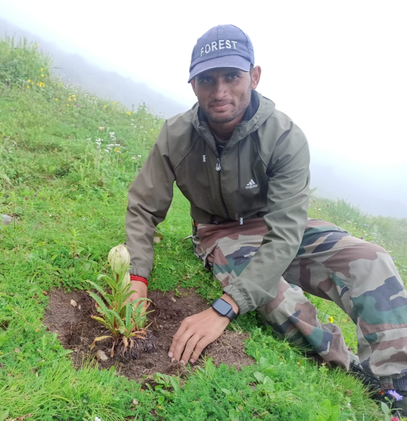
M98 279L105 278L111 289L111 293L104 291L102 287L92 281L87 281L95 288L103 297L103 299L92 291L88 291L89 295L96 301L96 308L101 316L92 316L102 325L107 327L110 335L98 336L92 344L92 348L96 342L103 339L112 338L113 344L110 350L110 356L114 356L115 349L121 356L131 356L137 358L141 352L154 349L154 343L149 341L146 344L137 342L136 339L142 341L151 339L147 335L145 328L147 322L147 314L141 301L150 301L148 298L138 298L132 303L127 300L133 291L130 291L130 275L129 275L129 252L124 244L113 247L108 255L108 262L111 266L115 279L101 274ZM105 301L107 305L105 304Z

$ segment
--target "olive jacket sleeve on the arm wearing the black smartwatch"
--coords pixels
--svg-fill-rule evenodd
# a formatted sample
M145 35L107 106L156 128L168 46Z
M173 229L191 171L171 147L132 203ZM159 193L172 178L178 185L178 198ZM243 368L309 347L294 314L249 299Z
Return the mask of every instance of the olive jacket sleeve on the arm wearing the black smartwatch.
M240 276L224 292L239 314L255 310L277 296L281 275L300 247L309 201L309 150L304 134L293 125L276 144L268 163L268 228L263 242Z

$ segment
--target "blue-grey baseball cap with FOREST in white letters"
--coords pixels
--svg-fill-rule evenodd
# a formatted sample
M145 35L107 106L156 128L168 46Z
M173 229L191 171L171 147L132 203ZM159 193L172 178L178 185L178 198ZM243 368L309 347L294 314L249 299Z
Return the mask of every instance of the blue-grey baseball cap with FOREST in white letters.
M216 67L236 67L249 71L255 64L250 38L237 26L218 25L205 32L193 47L190 78Z

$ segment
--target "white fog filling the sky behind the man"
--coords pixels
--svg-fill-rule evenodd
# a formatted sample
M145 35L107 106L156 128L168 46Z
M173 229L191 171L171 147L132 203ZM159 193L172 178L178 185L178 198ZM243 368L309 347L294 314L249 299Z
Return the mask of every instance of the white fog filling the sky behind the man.
M187 79L196 39L233 23L254 44L258 91L308 138L317 193L372 214L407 217L407 3L111 4L0 0L0 18L147 84L185 110L195 102Z

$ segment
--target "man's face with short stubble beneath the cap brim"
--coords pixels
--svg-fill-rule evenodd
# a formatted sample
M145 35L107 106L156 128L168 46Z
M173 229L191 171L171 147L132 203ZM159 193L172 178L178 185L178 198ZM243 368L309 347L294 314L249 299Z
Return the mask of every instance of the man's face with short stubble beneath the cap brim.
M220 67L199 73L191 81L199 106L210 123L239 123L256 89L259 67L252 75L231 67Z

